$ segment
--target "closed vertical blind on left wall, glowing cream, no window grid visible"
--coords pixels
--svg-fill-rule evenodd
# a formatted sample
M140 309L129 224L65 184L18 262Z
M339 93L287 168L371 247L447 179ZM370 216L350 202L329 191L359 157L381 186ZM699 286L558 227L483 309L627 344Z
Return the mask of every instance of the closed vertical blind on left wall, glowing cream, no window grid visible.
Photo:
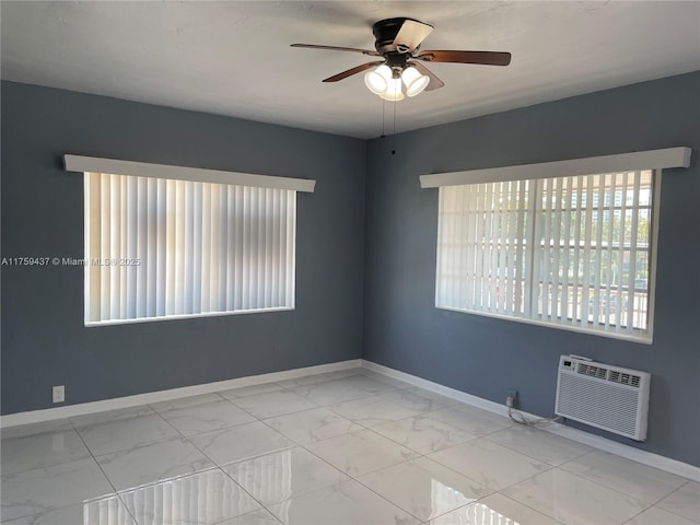
M296 191L84 174L85 323L294 307Z

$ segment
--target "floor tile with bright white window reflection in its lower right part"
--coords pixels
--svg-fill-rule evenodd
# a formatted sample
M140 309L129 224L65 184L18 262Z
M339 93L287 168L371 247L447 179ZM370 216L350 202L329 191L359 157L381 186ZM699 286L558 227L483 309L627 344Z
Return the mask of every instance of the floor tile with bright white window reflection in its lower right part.
M358 481L420 521L453 511L492 492L427 457L361 476Z

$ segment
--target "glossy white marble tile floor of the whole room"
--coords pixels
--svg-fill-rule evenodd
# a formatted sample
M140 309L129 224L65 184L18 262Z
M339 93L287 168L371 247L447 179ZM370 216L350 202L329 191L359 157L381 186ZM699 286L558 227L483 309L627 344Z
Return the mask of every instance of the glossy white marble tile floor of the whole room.
M685 525L700 483L352 370L2 430L3 524Z

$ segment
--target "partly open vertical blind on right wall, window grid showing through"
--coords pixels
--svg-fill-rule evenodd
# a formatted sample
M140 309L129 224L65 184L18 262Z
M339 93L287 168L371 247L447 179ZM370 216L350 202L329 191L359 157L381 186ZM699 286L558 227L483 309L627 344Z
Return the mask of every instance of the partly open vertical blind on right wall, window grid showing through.
M653 174L441 187L436 306L645 331Z

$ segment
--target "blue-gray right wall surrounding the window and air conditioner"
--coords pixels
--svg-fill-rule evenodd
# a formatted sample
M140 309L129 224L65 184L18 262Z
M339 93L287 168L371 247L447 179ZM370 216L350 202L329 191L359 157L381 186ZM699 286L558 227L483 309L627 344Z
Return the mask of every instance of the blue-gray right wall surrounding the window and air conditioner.
M541 416L562 353L650 371L648 442L605 435L700 465L699 94L696 72L371 141L363 358L497 402L515 388ZM663 177L653 345L434 307L438 190L419 175L676 145L692 165Z

